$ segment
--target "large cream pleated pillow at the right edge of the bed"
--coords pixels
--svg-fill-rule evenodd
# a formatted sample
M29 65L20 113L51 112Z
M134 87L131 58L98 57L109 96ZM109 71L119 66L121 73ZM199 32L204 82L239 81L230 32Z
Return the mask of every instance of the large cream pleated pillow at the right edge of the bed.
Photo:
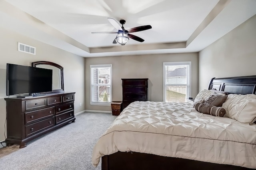
M226 109L226 117L238 122L252 124L256 120L255 94L228 94L222 107Z

